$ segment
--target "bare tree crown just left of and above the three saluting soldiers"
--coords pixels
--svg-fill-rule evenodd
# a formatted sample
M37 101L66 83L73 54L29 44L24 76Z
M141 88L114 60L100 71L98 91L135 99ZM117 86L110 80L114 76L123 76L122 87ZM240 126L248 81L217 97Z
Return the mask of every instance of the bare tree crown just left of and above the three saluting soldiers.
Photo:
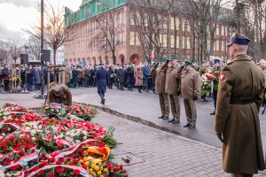
M151 62L153 49L157 58L166 54L168 40L164 35L168 35L168 10L168 2L129 1L130 24L137 33L137 40L148 63Z

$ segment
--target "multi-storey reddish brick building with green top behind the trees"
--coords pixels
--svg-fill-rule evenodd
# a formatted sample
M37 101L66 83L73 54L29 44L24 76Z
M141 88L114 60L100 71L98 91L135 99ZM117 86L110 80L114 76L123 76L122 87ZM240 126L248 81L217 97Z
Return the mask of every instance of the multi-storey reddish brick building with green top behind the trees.
M69 30L74 33L74 40L64 44L66 63L74 65L81 62L85 62L86 65L98 65L100 62L106 64L145 63L143 48L139 41L136 24L131 19L129 4L126 0L107 1L112 2L108 4L104 4L104 1L83 0L79 11L71 12L66 9L66 27L71 26ZM98 26L112 23L108 18L110 14L113 15L113 33L117 42L114 56L110 50L105 50L106 46L99 45L99 35L104 33L100 31L103 31L104 27ZM169 14L168 22L161 25L164 29L160 34L160 46L165 51L162 55L169 57L176 54L180 60L197 60L197 51L192 52L192 28L187 23L187 17L179 15L175 18L174 20L174 17ZM106 31L109 30L107 25L105 27ZM177 36L175 30L177 30ZM229 35L226 24L219 23L215 31L215 57L223 60L228 58L226 42L229 40ZM207 40L207 50L210 50L210 40Z

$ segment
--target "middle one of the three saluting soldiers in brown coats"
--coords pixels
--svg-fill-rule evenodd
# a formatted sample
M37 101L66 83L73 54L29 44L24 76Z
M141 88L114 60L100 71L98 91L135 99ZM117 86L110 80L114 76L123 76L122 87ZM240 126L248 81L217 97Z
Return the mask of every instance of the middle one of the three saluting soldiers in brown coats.
M169 119L168 122L172 122L173 124L177 124L180 121L180 103L179 97L180 92L180 78L177 76L178 73L178 63L177 57L171 56L170 65L168 65L168 70L166 73L166 86L165 92L169 95L170 104L171 104L171 112L173 115L172 119ZM168 62L169 62L168 61Z

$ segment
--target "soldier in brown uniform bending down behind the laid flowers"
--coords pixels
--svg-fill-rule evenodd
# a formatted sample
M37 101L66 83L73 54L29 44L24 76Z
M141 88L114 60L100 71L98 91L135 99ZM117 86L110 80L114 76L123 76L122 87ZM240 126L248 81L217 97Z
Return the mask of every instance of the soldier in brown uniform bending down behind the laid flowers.
M48 103L72 105L70 90L62 83L52 83L48 93Z

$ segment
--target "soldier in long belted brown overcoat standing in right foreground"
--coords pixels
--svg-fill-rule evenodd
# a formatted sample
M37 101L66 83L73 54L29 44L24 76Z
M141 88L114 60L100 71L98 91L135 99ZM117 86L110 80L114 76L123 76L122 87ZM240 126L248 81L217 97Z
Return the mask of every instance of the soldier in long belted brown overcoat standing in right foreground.
M244 35L231 35L232 60L220 76L215 114L215 133L223 142L223 170L234 177L265 169L258 116L265 82L262 70L246 55L249 41Z

